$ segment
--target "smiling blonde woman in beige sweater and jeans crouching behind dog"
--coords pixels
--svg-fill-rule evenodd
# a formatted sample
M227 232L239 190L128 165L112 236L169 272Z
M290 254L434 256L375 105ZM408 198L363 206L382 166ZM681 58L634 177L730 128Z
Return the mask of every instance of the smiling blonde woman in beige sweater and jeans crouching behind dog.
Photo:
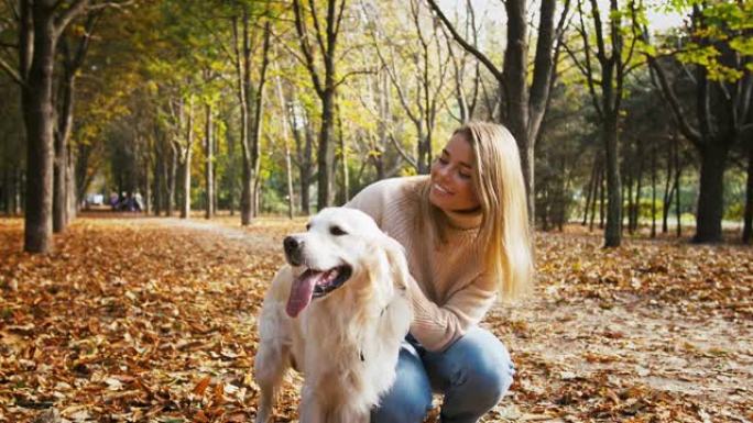
M397 379L373 423L419 423L432 392L441 421L476 422L510 388L510 354L477 324L499 296L525 291L533 275L525 186L517 146L501 125L455 131L430 176L386 179L348 207L369 213L404 247L414 280L414 320Z

